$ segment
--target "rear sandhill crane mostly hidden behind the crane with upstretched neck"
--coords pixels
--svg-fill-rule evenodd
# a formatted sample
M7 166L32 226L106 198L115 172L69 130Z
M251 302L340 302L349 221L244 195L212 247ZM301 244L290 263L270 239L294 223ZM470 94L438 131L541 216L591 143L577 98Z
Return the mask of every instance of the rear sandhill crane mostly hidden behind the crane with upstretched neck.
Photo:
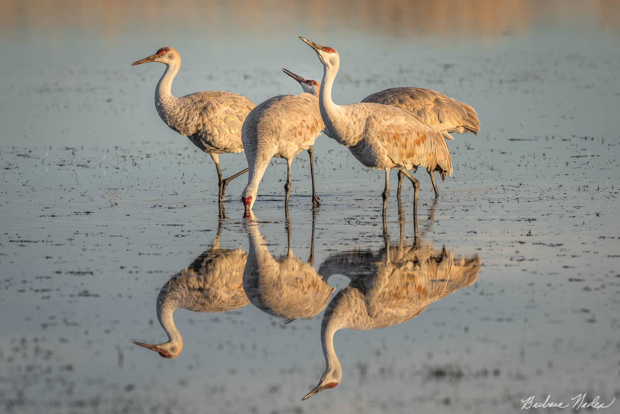
M290 71L286 73L299 82L304 92L319 96L321 82L306 79ZM402 108L414 113L425 121L428 125L435 126L436 130L443 134L443 138L454 139L449 133L463 134L467 132L477 135L480 131L480 121L474 108L467 103L459 102L436 90L421 87L394 87L381 90L372 95L368 95L361 102L383 103L391 107ZM428 171L435 197L439 196L437 184L435 183L435 173ZM397 197L401 196L402 179L404 174L398 172L398 192Z

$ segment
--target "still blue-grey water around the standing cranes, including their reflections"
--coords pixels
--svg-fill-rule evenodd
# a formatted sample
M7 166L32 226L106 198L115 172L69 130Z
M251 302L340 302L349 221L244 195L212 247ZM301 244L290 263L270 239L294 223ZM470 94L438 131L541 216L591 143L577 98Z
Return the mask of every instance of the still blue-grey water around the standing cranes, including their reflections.
M3 2L1 410L496 413L531 395L620 398L618 6ZM213 162L154 110L163 66L129 66L174 46L175 95L259 103L301 92L280 68L321 77L298 35L339 51L337 103L423 86L476 108L482 130L448 142L437 200L417 174L417 233L410 187L399 203L392 177L383 222L382 173L325 136L320 208L300 154L288 215L273 159L255 216L243 176L218 219ZM246 164L220 159L224 175ZM337 386L302 402L326 368Z

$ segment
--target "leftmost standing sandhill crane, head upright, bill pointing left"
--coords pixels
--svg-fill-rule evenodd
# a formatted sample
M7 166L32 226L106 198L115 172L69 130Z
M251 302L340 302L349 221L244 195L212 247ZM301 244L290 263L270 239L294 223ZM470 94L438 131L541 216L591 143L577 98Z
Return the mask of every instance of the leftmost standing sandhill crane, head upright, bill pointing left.
M170 46L154 55L131 64L159 62L166 65L164 74L155 87L155 108L159 117L173 131L178 132L205 151L215 162L218 171L218 200L224 200L224 191L232 179L247 172L247 168L228 178L222 177L218 154L243 151L241 126L254 103L242 95L231 92L196 92L177 98L172 95L172 79L179 72L181 58Z

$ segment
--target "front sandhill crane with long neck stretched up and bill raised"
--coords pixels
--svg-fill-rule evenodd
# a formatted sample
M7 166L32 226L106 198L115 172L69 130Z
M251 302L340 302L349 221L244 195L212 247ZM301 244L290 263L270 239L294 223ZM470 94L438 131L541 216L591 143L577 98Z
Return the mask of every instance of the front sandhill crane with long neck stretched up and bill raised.
M452 175L452 161L443 134L401 108L370 102L336 105L332 100L332 85L340 67L338 52L299 38L316 51L323 64L319 110L327 136L346 146L366 167L385 170L383 215L389 195L389 170L402 171L414 185L414 216L417 216L420 182L409 169L422 165L439 172L442 178Z

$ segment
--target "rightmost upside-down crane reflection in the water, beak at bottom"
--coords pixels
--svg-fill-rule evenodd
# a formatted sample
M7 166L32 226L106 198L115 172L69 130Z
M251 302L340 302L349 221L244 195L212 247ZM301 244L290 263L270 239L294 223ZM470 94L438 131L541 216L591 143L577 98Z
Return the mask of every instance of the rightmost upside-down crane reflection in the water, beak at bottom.
M402 222L401 222L402 223ZM402 224L401 224L402 225ZM378 253L352 250L330 255L321 264L323 275L340 273L350 278L329 302L321 322L325 372L319 384L302 400L342 380L342 367L334 350L334 334L342 328L368 330L402 324L438 299L476 281L480 259L454 258L453 252L428 246L389 245ZM402 234L402 231L401 231Z

